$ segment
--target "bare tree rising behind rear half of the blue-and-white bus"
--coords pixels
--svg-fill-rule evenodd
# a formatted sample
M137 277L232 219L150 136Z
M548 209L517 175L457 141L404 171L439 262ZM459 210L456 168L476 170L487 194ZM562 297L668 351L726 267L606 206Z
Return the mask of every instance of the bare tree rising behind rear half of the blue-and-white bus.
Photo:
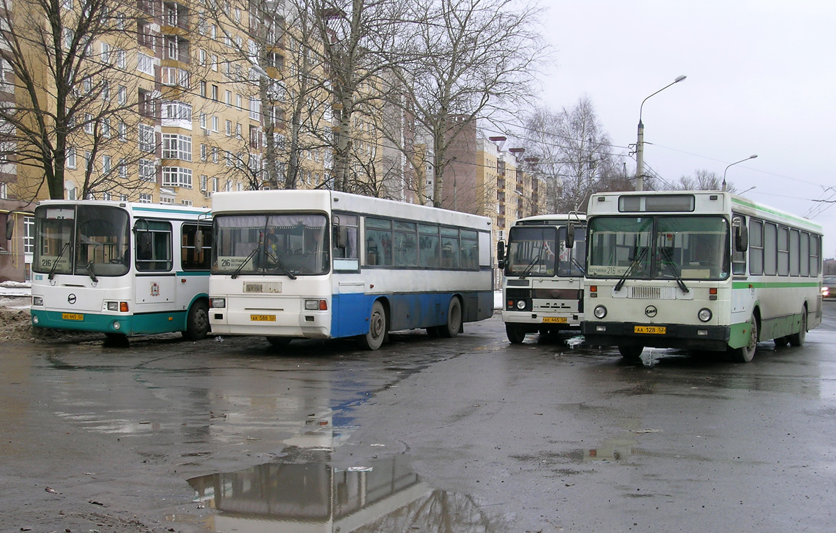
M530 95L544 51L532 25L538 9L512 0L436 0L410 5L393 73L408 113L430 143L432 201L442 206L445 171L458 135ZM424 161L408 154L421 175Z

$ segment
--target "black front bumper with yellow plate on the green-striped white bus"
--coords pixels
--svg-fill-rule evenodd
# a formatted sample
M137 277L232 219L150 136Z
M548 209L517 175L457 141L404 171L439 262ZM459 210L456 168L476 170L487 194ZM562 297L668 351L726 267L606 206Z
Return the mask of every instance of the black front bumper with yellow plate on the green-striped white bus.
M642 327L665 327L664 333L639 332ZM639 322L584 322L585 343L592 346L645 346L685 350L725 351L731 328L691 324L645 324Z

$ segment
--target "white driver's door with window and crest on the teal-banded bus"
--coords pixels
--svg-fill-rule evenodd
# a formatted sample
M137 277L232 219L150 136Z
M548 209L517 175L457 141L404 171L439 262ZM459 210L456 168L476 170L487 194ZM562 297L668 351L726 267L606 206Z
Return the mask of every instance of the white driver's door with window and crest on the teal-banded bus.
M134 224L136 247L136 309L158 312L171 309L176 300L176 275L172 270L171 222L138 219Z

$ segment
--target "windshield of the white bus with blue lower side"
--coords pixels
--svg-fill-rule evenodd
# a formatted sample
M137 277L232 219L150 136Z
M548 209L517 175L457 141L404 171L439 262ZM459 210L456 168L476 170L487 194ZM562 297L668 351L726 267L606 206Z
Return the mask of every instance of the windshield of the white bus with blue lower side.
M212 273L295 277L329 272L328 219L312 213L215 217Z

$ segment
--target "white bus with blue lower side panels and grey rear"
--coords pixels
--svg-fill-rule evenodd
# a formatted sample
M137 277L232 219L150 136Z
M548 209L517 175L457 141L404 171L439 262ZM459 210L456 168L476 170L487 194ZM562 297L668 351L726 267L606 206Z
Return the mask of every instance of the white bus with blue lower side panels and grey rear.
M491 220L331 190L249 190L212 197L212 332L454 337L491 317Z

